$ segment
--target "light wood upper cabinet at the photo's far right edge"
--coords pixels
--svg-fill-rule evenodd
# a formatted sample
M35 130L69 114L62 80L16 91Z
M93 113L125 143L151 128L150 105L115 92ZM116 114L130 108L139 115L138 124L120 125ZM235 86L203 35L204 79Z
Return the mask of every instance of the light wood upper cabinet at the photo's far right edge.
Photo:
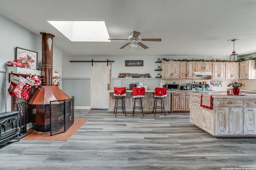
M240 79L255 79L255 61L247 60L240 63Z

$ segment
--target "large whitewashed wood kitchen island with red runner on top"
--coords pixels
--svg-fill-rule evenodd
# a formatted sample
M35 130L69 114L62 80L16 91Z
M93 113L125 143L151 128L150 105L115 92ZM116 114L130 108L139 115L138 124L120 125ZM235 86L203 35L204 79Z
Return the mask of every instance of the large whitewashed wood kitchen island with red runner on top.
M201 98L210 101L201 106ZM256 94L190 93L190 123L214 137L256 137ZM206 108L208 107L208 108Z

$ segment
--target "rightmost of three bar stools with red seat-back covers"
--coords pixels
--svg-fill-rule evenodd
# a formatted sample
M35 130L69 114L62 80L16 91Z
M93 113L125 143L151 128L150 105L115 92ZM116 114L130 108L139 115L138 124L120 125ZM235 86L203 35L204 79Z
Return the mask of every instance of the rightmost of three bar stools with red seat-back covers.
M163 113L163 109L164 109L164 97L167 96L167 88L160 88L160 87L156 87L155 88L155 96L154 96L154 108L152 113L154 113L155 110L155 115L156 115L156 109L161 109L162 113ZM161 106L157 106L157 100L160 99L161 100ZM164 110L164 115L165 114L165 110Z

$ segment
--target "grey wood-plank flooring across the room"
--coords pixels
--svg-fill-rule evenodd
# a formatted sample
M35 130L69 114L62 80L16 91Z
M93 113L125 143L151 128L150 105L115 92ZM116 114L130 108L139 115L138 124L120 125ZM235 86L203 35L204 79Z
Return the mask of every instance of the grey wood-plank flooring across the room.
M88 121L68 141L18 141L0 147L1 170L224 170L256 166L256 138L215 138L189 113L76 110ZM256 169L256 167L248 167Z

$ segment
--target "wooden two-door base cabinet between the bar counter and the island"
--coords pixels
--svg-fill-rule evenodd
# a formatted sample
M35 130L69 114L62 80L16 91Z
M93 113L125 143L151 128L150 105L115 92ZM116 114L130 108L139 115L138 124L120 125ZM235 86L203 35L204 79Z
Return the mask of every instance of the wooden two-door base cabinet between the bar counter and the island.
M188 112L189 110L189 92L172 92L171 112Z

